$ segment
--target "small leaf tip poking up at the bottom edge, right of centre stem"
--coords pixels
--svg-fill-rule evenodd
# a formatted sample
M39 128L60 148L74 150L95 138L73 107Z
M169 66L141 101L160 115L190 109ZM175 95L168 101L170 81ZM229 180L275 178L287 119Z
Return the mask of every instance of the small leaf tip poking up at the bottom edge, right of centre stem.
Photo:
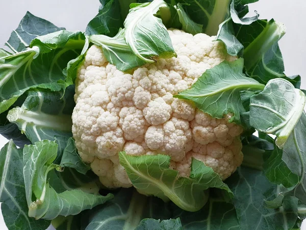
M170 220L143 219L135 230L183 230L180 218Z

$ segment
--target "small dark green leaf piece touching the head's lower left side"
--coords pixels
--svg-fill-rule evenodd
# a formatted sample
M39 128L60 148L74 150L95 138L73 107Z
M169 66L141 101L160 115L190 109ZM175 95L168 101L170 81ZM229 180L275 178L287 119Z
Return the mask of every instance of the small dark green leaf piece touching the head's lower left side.
M60 166L74 168L79 173L84 175L88 170L90 170L90 167L82 161L80 155L78 154L77 147L75 147L75 143L72 137L70 137L68 140L67 146L63 151Z

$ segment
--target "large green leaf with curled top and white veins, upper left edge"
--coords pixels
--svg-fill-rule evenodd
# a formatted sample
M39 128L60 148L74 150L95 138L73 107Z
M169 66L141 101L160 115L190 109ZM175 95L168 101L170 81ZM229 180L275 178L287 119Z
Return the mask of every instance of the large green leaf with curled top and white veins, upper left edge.
M0 58L0 113L30 88L48 88L52 91L65 88L63 70L71 59L79 56L84 45L80 33L71 32L37 37L33 43L39 47Z

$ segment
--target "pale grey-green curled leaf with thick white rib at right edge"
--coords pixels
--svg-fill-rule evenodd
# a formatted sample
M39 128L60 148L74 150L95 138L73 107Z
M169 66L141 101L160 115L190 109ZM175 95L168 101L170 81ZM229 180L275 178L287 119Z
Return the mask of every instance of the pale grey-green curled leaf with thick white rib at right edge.
M283 148L298 122L306 97L285 79L270 80L264 90L250 98L250 125L277 136L275 144Z

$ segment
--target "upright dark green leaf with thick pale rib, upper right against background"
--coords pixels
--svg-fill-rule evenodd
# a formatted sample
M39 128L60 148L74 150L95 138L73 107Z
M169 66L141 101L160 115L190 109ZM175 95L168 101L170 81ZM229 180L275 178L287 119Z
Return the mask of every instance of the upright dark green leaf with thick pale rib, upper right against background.
M284 34L285 26L273 19L257 20L251 25L235 25L235 36L244 47L243 58L248 76L263 84L273 78L291 81L284 74L284 61L278 47L278 40Z

